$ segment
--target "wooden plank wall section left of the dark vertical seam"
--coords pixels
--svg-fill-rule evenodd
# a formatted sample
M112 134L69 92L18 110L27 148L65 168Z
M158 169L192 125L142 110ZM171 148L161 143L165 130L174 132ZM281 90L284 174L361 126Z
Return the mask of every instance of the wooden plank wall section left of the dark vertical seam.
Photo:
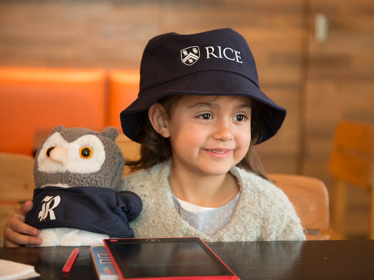
M264 164L272 172L298 172L303 1L49 0L0 4L0 65L139 68L144 46L155 35L235 29L254 53L261 89L288 109L281 132L260 147Z

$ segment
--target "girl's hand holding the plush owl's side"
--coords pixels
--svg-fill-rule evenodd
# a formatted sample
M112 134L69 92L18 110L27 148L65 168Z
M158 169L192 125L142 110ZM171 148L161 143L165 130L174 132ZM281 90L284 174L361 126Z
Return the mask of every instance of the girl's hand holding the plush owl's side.
M37 228L25 224L25 216L33 208L33 202L26 201L10 217L4 228L5 247L19 247L20 245L40 245L42 239L36 237L39 234ZM29 234L29 235L25 235Z

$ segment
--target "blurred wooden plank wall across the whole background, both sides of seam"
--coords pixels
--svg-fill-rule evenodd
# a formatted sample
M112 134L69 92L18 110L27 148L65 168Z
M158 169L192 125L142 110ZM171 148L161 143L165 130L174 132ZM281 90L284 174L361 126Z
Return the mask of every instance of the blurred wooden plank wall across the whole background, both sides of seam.
M373 15L372 0L0 1L0 65L138 68L155 35L231 27L254 53L261 89L288 109L279 134L258 146L267 171L329 187L337 121L374 123Z

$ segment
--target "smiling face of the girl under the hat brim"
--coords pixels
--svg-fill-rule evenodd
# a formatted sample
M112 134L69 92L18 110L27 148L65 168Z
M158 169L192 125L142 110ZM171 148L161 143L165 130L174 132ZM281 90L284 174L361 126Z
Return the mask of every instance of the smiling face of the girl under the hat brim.
M173 167L226 174L248 152L251 111L248 97L183 96L168 121Z

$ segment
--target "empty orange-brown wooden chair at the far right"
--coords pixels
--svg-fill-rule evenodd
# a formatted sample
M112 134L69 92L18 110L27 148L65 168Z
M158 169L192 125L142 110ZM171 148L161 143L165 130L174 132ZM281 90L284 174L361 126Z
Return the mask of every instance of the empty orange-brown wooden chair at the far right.
M334 177L332 221L339 233L345 233L347 187L367 190L370 195L369 233L374 239L374 125L341 121L337 125L329 162Z

